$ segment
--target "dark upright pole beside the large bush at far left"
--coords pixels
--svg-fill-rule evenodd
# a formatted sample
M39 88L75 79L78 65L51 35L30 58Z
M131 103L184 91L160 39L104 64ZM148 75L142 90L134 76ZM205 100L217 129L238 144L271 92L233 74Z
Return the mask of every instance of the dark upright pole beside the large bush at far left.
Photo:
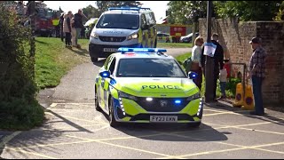
M30 27L31 27L31 39L30 39L30 60L33 61L33 66L32 66L32 74L33 78L35 79L35 65L36 65L36 60L35 60L35 54L36 54L36 39L35 39L35 28L36 28L36 1L28 1L29 4L29 16L30 16Z

